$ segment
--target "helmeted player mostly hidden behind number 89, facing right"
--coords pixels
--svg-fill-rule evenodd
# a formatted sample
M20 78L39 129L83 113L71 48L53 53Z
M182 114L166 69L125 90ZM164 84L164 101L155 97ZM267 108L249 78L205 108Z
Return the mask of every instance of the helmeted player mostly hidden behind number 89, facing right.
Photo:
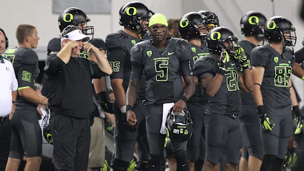
M240 27L245 40L239 41L250 63L253 48L264 40L264 24L266 17L256 11L242 16ZM242 130L243 151L240 159L241 171L259 171L263 159L263 146L260 136L260 124L256 115L256 107L251 93L241 91L241 108L239 121Z

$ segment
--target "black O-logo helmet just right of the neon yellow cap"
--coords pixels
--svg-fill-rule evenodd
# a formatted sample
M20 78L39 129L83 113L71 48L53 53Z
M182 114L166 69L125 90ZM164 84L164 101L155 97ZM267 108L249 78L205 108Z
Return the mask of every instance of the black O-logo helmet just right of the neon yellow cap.
M178 23L178 32L181 38L186 40L192 38L205 39L206 35L199 31L199 28L203 27L203 18L200 13L189 12L183 15Z

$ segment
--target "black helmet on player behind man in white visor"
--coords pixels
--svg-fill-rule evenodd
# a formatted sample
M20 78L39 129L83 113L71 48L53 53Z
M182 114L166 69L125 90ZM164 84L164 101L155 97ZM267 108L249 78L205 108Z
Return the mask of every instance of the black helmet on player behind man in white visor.
M60 32L62 32L62 30L68 25L78 26L78 24L84 23L85 26L82 27L82 32L83 34L90 36L92 39L94 36L94 26L87 25L90 21L91 20L81 9L75 7L65 9L58 17Z

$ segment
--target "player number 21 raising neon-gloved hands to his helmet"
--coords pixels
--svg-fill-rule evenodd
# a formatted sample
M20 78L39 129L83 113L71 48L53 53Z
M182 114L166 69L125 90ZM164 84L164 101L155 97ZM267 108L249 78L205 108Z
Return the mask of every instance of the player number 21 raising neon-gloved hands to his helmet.
M204 126L206 155L202 171L212 171L225 152L225 168L235 170L239 159L240 139L238 114L240 89L253 90L247 56L235 35L226 27L216 27L207 35L211 55L194 63L205 96ZM243 74L240 71L243 70Z

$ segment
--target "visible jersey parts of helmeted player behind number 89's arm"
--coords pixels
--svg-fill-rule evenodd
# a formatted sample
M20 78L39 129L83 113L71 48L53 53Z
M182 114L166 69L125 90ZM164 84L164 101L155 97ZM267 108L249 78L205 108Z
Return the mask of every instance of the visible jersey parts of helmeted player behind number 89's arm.
M239 41L239 44L244 49L244 51L247 55L247 59L250 60L251 59L250 54L251 54L253 48L255 48L256 46L247 40L241 40L241 41ZM241 91L241 105L255 105L253 96L251 93L246 93L244 91Z

